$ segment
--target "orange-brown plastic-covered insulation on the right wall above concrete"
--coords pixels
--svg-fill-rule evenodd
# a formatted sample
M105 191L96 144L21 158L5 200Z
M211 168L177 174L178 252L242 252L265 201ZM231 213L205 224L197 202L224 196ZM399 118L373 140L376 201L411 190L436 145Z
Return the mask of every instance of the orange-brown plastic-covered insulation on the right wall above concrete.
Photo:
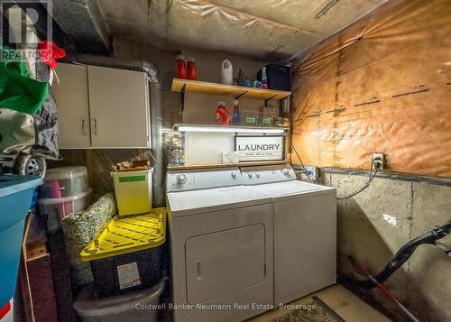
M451 3L391 1L323 41L293 78L304 163L451 177ZM298 160L293 156L293 162Z

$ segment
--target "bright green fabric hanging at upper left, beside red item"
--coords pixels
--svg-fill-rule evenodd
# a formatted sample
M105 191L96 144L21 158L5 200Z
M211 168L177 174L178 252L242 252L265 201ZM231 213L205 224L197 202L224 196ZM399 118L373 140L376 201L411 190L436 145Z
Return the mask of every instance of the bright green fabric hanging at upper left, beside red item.
M32 79L14 52L0 47L0 107L33 115L44 103L49 83Z

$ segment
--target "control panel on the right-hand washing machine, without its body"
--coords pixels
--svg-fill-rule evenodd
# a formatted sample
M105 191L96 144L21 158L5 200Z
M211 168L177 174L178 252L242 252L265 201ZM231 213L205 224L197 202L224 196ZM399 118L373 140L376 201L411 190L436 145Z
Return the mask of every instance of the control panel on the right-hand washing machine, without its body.
M296 173L290 164L242 168L241 172L245 186L296 179Z

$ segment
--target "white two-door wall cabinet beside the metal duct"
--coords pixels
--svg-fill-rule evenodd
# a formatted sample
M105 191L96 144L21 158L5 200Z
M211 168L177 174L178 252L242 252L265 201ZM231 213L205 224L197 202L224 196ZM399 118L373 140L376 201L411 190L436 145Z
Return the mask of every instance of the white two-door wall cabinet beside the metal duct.
M68 64L59 64L57 73L60 85L54 86L53 92L60 119L61 149L151 147L145 73ZM81 89L85 92L81 93ZM73 135L77 130L80 137Z

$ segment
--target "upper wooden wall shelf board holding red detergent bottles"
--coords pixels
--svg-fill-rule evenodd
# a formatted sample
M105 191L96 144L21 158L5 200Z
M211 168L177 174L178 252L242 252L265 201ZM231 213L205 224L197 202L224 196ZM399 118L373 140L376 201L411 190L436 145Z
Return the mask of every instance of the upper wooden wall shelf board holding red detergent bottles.
M255 87L242 87L209 83L205 81L174 78L172 91L178 93L202 93L211 95L230 95L233 97L257 98L264 100L279 100L290 97L291 92Z

